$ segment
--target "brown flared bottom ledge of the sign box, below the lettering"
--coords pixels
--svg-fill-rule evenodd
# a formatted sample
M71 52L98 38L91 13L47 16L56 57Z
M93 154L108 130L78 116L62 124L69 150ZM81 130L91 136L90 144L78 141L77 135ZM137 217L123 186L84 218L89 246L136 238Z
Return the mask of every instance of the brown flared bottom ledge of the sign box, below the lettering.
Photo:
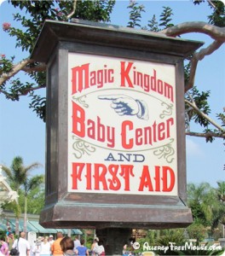
M44 227L169 229L187 227L193 222L191 210L185 206L75 203L58 201L41 212Z

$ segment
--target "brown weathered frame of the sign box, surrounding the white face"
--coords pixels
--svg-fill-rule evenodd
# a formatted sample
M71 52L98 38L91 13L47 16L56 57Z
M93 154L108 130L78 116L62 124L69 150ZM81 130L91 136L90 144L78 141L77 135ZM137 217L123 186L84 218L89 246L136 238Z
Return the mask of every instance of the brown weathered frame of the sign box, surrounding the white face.
M46 193L43 227L163 229L193 221L187 207L183 60L202 43L84 20L46 20L32 59L47 64ZM153 61L176 69L177 195L67 191L68 55Z

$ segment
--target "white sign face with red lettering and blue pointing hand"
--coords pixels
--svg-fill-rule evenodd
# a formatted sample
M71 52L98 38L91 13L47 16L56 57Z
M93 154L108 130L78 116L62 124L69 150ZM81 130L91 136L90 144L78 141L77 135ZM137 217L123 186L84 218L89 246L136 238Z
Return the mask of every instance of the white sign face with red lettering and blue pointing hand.
M177 195L175 66L69 53L68 192Z

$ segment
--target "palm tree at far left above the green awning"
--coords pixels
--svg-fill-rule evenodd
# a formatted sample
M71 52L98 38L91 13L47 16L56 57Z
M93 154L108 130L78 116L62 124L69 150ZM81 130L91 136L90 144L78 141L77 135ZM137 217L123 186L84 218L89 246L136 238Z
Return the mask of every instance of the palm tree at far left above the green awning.
M32 163L30 166L24 166L23 159L20 156L14 157L10 168L7 166L3 166L3 172L6 174L11 188L14 189L18 195L20 195L19 192L21 188L25 189L25 200L28 191L30 189L33 189L35 186L38 186L40 184L40 181L43 179L43 177L32 177L31 179L28 177L29 172L31 172L35 168L38 168L39 166L39 163ZM11 204L16 217L15 232L16 234L19 234L19 218L21 212L20 204L13 202ZM26 221L24 222L24 224L24 228L26 230Z

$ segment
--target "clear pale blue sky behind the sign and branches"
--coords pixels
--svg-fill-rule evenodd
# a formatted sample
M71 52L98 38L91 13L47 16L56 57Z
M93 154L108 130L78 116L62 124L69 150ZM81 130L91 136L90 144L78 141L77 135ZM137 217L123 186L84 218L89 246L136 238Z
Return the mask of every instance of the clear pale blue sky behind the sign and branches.
M0 3L3 2L0 0ZM111 23L119 26L127 26L129 21L128 1L118 1L113 11ZM151 20L155 14L157 18L163 10L163 6L173 9L173 23L184 21L207 21L206 16L211 14L207 3L194 6L191 1L140 1L146 7L142 14L141 25L146 26L147 20ZM20 11L20 10L18 10ZM15 61L26 57L20 49L15 49L14 38L9 38L3 32L3 22L9 22L12 26L19 26L13 20L15 13L8 2L4 1L0 6L0 54L6 56L15 55ZM205 45L211 42L211 38L190 33L182 36L191 40L204 41ZM199 62L195 85L199 91L211 90L211 119L216 119L216 113L222 113L225 107L225 47L218 49L212 55L206 56ZM20 73L20 78L26 81L26 76ZM43 91L44 93L44 91ZM6 100L0 94L0 164L10 166L15 156L20 155L26 166L38 162L43 166L32 172L44 173L45 164L45 125L38 119L36 113L29 108L31 99L21 97L19 102ZM191 131L202 131L199 125L191 125ZM210 183L216 188L217 181L225 180L224 150L222 139L216 139L213 143L205 143L205 138L186 137L187 154L187 183Z

